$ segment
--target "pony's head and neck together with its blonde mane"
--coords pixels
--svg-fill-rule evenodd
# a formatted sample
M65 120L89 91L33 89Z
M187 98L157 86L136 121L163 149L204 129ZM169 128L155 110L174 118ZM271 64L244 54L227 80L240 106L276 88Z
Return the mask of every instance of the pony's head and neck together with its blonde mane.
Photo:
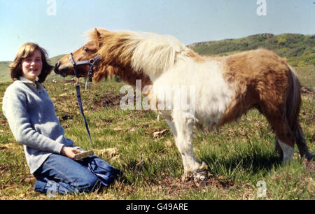
M176 64L201 59L173 36L94 29L90 32L90 38L90 42L72 55L75 62L99 56L99 63L94 67L94 83L118 75L130 85L135 85L137 79L150 84ZM89 65L80 65L77 69L79 76L87 76ZM57 62L55 73L62 76L74 75L68 56Z

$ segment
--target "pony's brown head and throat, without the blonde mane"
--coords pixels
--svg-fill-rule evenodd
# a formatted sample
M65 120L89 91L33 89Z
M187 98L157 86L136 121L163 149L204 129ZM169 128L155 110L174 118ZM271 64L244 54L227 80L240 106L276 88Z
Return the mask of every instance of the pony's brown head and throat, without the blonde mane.
M79 62L99 56L100 62L94 66L94 83L98 83L102 78L120 76L130 85L135 85L139 79L142 80L142 86L151 85L150 78L142 71L134 71L130 64L132 51L128 48L130 44L125 45L129 36L127 32L116 33L95 28L90 31L90 41L72 52L73 60ZM89 68L89 64L78 65L78 75L87 77ZM65 55L55 64L55 73L63 77L75 75L69 55Z

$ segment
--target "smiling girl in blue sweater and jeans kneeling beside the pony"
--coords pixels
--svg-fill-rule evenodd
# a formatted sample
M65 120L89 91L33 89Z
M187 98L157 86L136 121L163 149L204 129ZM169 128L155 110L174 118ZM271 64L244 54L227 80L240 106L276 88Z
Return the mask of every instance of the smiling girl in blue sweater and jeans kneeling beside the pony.
M35 191L66 194L108 186L120 176L119 170L94 155L73 160L82 150L64 136L54 104L42 85L53 68L47 57L35 43L18 49L10 65L13 83L6 89L2 106L16 141L24 145L27 164L36 178Z

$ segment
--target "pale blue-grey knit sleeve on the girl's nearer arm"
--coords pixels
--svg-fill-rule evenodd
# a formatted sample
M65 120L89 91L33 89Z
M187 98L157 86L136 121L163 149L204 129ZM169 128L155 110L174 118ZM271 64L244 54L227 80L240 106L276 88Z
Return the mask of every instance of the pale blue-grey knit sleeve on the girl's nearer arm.
M24 92L8 87L3 97L2 110L16 141L44 152L61 152L62 143L43 136L31 126Z

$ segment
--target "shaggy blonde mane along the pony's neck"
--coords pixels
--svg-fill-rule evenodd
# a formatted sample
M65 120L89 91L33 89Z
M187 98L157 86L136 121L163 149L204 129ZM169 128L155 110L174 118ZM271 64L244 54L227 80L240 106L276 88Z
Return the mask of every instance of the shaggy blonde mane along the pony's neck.
M197 57L197 53L173 36L106 29L97 31L99 34L92 31L90 37L99 45L97 55L102 64L131 68L146 73L151 79L174 66L181 57Z

